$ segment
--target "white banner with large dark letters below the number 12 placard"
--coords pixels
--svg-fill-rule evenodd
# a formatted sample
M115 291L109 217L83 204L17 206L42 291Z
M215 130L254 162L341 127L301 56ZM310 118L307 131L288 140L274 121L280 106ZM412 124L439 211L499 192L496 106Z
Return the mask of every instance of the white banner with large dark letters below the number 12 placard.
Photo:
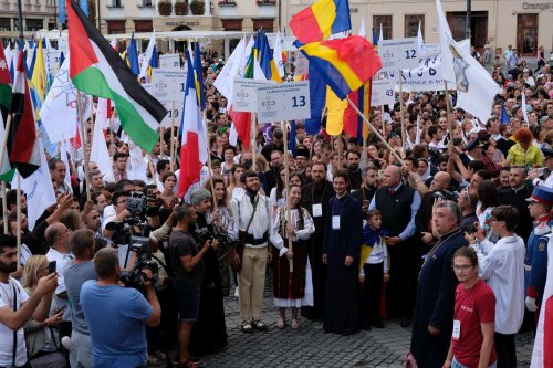
M380 71L380 80L389 80L399 91L399 72ZM455 82L448 81L448 88L455 90ZM419 60L419 66L403 70L404 92L442 91L444 78L441 77L441 54L432 54Z

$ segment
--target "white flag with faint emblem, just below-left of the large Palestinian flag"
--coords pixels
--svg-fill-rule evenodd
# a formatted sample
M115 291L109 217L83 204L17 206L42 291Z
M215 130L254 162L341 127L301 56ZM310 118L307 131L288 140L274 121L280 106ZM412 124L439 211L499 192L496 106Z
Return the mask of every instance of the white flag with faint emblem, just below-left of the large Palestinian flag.
M54 83L39 113L50 141L64 141L76 135L77 92L70 78L69 62L70 57L67 56L55 75ZM85 96L82 98L85 103L86 95L82 94L81 96ZM88 104L86 103L86 105Z

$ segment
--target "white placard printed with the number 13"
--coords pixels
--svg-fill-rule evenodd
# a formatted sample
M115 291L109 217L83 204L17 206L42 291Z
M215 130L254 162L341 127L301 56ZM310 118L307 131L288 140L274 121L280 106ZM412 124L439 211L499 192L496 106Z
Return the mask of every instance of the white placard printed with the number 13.
M258 123L311 117L309 81L258 87Z

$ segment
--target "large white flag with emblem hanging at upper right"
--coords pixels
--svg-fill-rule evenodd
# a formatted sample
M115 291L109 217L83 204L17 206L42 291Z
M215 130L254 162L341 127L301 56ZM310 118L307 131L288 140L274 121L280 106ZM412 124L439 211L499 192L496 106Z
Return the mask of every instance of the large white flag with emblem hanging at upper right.
M492 103L499 85L490 73L463 50L451 36L451 32L441 11L440 0L436 0L439 18L439 34L442 57L442 75L447 81L456 81L457 107L471 113L482 122L491 116Z

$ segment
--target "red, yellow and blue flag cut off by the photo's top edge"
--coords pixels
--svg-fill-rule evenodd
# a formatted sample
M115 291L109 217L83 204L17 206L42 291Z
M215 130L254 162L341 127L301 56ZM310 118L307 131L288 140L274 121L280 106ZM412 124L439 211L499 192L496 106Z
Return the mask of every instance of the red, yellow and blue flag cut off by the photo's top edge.
M292 17L290 28L302 43L327 39L352 29L347 0L319 0Z

